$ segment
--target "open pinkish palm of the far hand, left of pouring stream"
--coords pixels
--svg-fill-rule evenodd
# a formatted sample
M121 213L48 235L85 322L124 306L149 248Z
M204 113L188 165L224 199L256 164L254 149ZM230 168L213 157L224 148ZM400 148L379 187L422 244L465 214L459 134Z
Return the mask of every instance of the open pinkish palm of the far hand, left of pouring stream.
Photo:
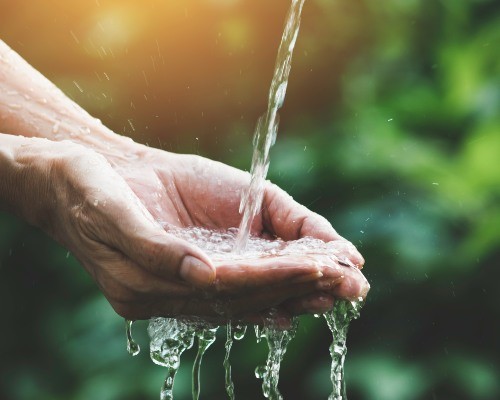
M138 159L138 168L118 168L153 217L178 227L227 229L240 223L239 202L249 175L196 156L158 152ZM254 230L262 232L260 216Z

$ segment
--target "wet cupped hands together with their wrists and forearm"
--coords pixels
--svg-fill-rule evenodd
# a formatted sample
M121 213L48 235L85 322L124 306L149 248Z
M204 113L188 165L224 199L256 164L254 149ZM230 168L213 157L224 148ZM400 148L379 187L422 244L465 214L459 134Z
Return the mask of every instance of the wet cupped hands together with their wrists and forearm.
M286 326L335 298L366 296L354 246L269 182L252 234L336 241L343 262L333 254L217 260L173 235L165 226L237 227L250 175L116 135L1 40L0 132L0 206L70 250L125 318L272 316Z

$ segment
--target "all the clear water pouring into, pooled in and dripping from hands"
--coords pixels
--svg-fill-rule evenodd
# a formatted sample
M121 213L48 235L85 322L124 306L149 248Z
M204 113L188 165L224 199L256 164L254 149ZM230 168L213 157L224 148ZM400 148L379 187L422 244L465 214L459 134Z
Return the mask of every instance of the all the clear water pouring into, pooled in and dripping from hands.
M213 258L235 259L238 257L269 257L277 255L292 255L296 259L311 257L329 257L345 265L346 254L353 246L346 243L324 243L317 239L303 238L294 242L282 240L265 240L250 235L254 217L259 213L263 199L264 184L269 168L269 151L276 140L278 129L278 110L283 105L291 61L297 40L300 16L305 0L292 0L292 5L286 19L283 37L278 50L275 70L269 91L267 111L259 118L253 139L253 155L251 178L248 189L242 193L240 213L242 220L239 229L229 229L227 232L214 232L203 228L178 229L167 227L175 235L199 246ZM351 247L349 247L351 246ZM349 262L347 262L350 265ZM353 267L355 268L355 267ZM325 314L325 319L333 335L330 348L332 356L331 378L333 392L330 400L342 400L345 397L343 365L346 353L346 335L349 322L359 315L361 302L337 301L335 308ZM283 397L278 389L281 362L285 356L288 344L297 331L298 320L293 321L289 330L280 330L272 322L267 326L256 326L257 341L265 339L268 345L268 357L265 365L256 368L255 374L262 379L262 391L266 398L281 400ZM127 321L127 349L136 355L139 346L132 339L132 322ZM152 318L149 322L150 356L153 362L167 368L167 377L161 390L161 400L173 399L174 379L179 369L182 353L191 348L195 337L198 339L198 352L193 365L194 400L200 396L200 368L205 351L216 338L217 328L200 322L188 322L172 318ZM233 339L241 340L246 332L246 326L226 327L225 357L225 387L228 398L235 399L235 388L231 377L230 353Z

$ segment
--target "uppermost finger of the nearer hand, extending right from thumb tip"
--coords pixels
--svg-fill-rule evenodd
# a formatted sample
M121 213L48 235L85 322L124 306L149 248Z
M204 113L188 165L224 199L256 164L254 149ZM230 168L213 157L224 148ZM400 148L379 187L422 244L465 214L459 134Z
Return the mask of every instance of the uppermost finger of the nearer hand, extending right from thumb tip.
M220 292L274 287L291 283L316 281L323 276L314 259L293 256L255 257L213 260L216 287Z

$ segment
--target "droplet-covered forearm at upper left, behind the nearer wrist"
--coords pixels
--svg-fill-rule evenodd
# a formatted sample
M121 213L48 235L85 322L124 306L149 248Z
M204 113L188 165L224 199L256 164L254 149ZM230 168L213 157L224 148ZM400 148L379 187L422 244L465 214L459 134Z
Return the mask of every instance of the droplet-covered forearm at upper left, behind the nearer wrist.
M67 139L105 155L128 146L126 138L90 116L1 40L0 132Z

